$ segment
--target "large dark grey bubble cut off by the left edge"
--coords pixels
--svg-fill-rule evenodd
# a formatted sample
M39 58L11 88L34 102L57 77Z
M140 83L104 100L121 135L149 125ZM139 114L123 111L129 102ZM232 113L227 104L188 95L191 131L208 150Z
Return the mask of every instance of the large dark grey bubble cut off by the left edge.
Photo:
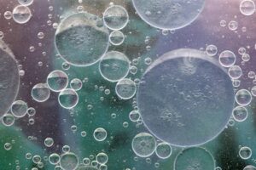
M0 99L2 99L0 116L3 116L16 99L20 77L15 56L2 41L0 41L0 63Z

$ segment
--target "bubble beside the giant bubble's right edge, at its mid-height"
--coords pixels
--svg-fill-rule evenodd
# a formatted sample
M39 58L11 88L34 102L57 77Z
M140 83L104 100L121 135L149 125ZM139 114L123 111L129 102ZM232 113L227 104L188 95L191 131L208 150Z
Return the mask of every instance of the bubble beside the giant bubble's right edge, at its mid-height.
M238 105L246 106L252 101L252 95L247 89L241 89L236 92L236 103Z

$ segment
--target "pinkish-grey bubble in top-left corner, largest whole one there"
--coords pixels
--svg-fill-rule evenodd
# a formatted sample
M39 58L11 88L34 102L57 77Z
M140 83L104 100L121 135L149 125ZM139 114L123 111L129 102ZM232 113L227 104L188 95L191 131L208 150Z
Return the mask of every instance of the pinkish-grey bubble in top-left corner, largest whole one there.
M18 24L25 24L32 17L30 8L24 5L18 5L13 10L13 19Z

